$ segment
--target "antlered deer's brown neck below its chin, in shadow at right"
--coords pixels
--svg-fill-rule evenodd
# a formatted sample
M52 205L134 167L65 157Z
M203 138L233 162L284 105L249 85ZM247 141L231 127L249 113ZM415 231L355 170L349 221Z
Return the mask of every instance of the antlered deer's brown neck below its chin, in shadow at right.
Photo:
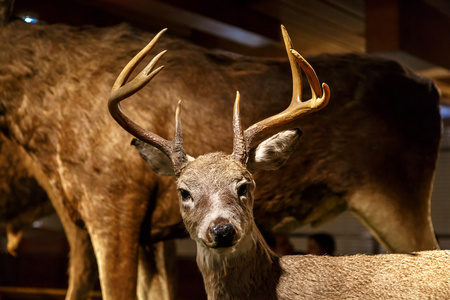
M275 298L278 257L256 224L231 250L219 252L197 242L197 264L209 300Z

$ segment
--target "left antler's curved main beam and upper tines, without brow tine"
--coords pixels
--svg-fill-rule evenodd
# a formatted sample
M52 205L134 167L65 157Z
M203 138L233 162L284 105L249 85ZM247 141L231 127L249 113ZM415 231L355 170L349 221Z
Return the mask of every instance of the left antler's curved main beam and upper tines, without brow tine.
M173 141L168 141L159 135L149 132L133 120L131 120L120 107L120 102L127 97L130 97L140 89L142 89L156 74L158 74L163 66L153 70L159 59L166 53L166 50L156 55L152 61L129 83L126 83L134 68L142 61L142 59L153 49L156 42L167 29L161 30L151 41L144 47L122 70L113 85L111 96L108 102L108 108L111 116L122 126L126 131L136 138L149 143L156 148L163 151L167 156L172 157ZM152 71L153 70L153 71ZM179 134L181 136L181 133Z

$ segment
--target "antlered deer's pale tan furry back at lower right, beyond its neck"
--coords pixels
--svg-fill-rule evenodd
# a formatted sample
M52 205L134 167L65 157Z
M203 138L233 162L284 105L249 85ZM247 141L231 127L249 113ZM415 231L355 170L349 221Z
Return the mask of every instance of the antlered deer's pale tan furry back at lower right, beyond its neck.
M278 299L448 299L450 251L283 256Z

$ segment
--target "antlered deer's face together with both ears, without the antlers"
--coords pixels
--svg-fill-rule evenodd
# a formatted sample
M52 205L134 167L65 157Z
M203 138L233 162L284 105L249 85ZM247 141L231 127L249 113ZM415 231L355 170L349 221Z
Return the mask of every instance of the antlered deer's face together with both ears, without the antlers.
M275 134L249 151L246 167L224 153L189 156L176 177L180 212L191 238L222 253L249 236L254 225L252 173L280 167L300 137L300 130ZM156 173L175 175L174 164L161 151L140 140L133 145Z

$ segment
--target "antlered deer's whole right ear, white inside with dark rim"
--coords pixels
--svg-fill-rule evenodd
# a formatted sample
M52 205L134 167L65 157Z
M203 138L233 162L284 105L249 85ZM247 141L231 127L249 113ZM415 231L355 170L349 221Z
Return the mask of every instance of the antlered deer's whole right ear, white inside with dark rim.
M253 147L249 153L247 168L250 173L261 170L276 170L294 151L303 132L299 129L279 132Z

